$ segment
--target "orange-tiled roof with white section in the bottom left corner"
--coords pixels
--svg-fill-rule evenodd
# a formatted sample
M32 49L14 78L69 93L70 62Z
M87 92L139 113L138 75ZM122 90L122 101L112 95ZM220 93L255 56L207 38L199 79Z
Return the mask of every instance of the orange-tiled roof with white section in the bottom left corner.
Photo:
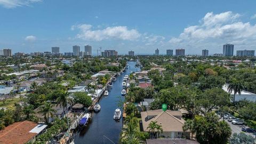
M33 143L36 137L45 131L46 126L30 121L13 123L0 131L0 143Z

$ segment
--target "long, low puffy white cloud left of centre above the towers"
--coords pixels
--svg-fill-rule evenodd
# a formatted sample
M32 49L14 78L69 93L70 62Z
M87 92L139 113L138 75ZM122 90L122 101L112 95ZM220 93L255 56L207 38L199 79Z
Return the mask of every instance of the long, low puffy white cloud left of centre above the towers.
M128 29L126 26L107 27L105 29L93 29L92 25L73 25L71 30L79 30L77 38L91 41L102 41L105 39L122 39L134 41L141 36L135 29Z

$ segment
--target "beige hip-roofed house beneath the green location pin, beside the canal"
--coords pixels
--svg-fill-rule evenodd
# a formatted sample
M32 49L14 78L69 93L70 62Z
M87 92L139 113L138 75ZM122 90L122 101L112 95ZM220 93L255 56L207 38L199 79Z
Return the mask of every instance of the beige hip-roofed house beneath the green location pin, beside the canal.
M162 109L157 110L147 110L141 112L142 130L145 132L150 132L147 127L150 122L157 122L157 124L162 125L163 133L159 134L159 137L164 137L167 139L180 139L183 137L190 137L190 132L183 132L182 126L185 120L182 119L181 111L172 111Z

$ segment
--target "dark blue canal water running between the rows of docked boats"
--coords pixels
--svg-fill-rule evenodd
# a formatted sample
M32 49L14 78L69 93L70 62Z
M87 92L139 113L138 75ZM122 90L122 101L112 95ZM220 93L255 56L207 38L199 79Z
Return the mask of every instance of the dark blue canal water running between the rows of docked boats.
M101 110L99 113L92 114L91 122L83 130L78 130L74 137L76 144L80 143L118 143L119 134L122 130L122 118L120 122L113 119L115 109L118 108L118 101L121 96L122 82L124 75L128 75L131 71L137 71L135 68L135 61L129 61L129 68L123 74L116 78L113 82L112 89L109 90L109 95L103 97L99 104ZM139 70L139 69L138 69ZM113 142L111 142L111 141Z

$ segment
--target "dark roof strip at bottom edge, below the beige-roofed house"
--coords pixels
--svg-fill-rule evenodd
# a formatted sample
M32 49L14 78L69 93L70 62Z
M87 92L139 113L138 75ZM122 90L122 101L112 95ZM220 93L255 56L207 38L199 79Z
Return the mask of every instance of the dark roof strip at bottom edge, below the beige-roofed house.
M199 144L195 140L188 139L147 139L146 144Z

